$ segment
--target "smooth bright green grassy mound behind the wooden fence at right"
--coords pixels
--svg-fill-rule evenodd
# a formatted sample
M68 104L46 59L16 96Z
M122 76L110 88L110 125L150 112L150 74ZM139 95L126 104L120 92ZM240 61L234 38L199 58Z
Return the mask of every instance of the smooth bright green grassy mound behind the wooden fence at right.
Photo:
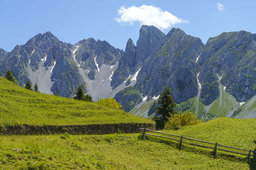
M182 127L179 131L164 132L236 148L256 148L256 118L215 118L202 124Z

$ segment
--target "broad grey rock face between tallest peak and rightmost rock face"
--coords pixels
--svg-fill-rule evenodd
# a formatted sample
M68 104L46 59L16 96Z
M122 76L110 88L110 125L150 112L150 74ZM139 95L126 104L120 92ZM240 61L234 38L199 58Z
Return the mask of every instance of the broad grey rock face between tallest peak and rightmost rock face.
M204 44L180 29L172 29L164 39L156 55L145 60L135 87L143 96L150 97L161 94L164 87L171 87L173 98L181 103L197 94L195 60Z

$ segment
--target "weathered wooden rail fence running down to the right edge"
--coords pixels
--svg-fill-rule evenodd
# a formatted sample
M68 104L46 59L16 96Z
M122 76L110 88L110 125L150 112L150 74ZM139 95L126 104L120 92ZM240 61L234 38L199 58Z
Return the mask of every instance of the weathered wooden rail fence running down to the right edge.
M143 131L143 132L141 132L141 131ZM166 137L166 136L159 136L159 135L156 135L156 134L146 134L146 132L154 132L154 133L157 133L157 134L164 134L164 135L173 136L173 137L176 137L176 138L171 138L171 137ZM185 137L185 136L179 136L179 135L176 135L176 134L167 134L167 133L163 133L163 132L152 131L152 130L146 129L146 128L140 128L140 133L143 134L143 140L145 139L145 136L155 136L155 137L159 137L159 138L166 138L166 139L172 139L172 140L175 140L175 141L179 141L179 150L182 147L182 143L188 143L189 145L195 145L195 146L200 146L200 147L204 147L204 148L212 148L212 149L214 149L213 156L214 156L215 159L217 158L217 150L222 150L222 151L225 151L225 152L231 152L231 153L246 155L246 156L248 156L248 164L250 164L251 163L251 156L252 156L251 153L256 152L256 151L252 151L252 150L244 150L244 149L241 149L241 148L235 148L235 147L232 147L232 146L220 145L218 143L212 143L212 142L208 142L208 141L201 141L201 140L198 140L198 139L192 139L192 138L188 138L188 137ZM177 139L177 138L179 138L179 139ZM201 143L207 143L207 144L211 144L211 145L214 145L214 146L200 145L200 144L197 144L197 143L184 141L184 139L188 139L190 141L201 142ZM222 146L225 149L218 148L218 146ZM228 148L232 148L236 151L228 150ZM247 152L247 153L243 153L241 151Z

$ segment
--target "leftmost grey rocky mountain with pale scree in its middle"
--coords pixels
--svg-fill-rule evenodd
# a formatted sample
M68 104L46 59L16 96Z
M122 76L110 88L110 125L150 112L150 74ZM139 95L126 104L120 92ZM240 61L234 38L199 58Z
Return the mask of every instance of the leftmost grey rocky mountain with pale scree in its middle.
M40 92L71 97L82 84L71 48L51 32L38 34L7 53L0 63L0 72L5 73L9 67L21 86L30 80L38 83Z

